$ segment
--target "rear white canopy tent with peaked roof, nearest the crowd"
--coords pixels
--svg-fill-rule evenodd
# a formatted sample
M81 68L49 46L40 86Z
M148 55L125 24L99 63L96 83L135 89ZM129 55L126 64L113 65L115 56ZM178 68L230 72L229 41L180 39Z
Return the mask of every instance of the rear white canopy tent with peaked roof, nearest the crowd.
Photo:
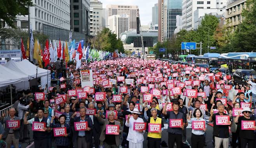
M28 81L35 78L41 78L42 88L46 87L47 79L48 79L48 87L51 86L51 71L37 67L36 65L32 64L28 60L22 60L21 62L14 62L13 60L10 60L4 65L4 67L7 67L12 71L15 71L17 74L22 74L27 76ZM28 81L27 83L29 87ZM27 84L25 85L27 86ZM21 87L21 86L16 86L16 87Z

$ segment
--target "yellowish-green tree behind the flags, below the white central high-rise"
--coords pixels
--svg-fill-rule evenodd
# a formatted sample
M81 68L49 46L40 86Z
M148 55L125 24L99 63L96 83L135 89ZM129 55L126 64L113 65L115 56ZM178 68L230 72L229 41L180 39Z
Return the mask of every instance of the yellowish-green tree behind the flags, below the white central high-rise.
M118 49L119 52L124 53L123 42L117 39L116 34L112 33L109 28L98 31L89 42L98 50L114 52Z

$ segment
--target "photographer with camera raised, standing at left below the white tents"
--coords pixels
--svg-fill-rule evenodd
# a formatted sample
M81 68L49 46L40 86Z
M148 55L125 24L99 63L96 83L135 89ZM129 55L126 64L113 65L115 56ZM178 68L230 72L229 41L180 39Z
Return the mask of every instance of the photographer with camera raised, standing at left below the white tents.
M18 112L19 112L19 119L20 119L20 129L19 129L19 141L24 141L24 139L28 138L28 126L25 126L23 124L23 119L25 116L25 111L28 110L28 108L32 105L32 102L28 104L29 99L26 97L23 97L20 99L20 102L18 103Z

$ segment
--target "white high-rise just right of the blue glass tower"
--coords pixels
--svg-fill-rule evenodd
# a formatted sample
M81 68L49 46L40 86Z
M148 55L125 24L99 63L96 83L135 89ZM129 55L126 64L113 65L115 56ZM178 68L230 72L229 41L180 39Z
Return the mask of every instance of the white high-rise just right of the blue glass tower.
M223 7L226 6L228 0L183 0L182 2L182 28L186 30L196 29L194 22L205 14L212 12L223 13ZM197 17L194 17L194 12L198 10ZM216 10L218 9L218 10ZM196 13L196 14L197 14Z

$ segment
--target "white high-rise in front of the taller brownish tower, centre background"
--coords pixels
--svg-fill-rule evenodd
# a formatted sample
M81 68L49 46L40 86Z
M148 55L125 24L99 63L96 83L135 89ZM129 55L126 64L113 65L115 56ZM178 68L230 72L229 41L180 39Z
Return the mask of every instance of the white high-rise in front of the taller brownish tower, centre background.
M129 15L111 15L108 19L109 29L114 32L117 39L121 38L121 33L130 28Z

